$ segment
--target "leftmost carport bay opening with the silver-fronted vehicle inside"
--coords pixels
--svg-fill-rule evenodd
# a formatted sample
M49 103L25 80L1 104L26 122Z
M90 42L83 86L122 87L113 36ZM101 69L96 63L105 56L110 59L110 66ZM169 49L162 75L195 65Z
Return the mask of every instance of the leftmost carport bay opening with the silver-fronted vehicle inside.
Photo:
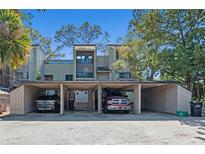
M59 85L24 85L24 113L60 113Z

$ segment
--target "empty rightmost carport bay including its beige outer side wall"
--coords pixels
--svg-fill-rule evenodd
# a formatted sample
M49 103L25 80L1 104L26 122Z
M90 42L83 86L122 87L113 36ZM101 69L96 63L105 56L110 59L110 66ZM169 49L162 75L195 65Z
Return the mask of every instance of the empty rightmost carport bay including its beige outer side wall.
M142 110L176 114L190 112L191 92L177 83L142 83Z

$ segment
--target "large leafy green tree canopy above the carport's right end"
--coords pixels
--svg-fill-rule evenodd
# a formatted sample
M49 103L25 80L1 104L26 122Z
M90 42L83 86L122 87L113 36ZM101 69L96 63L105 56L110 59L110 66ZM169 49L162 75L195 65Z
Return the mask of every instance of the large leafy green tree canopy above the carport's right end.
M178 80L192 91L205 80L204 36L205 10L134 10L125 42L132 56L125 59L139 68L139 77L147 68L151 74L160 70L161 79Z

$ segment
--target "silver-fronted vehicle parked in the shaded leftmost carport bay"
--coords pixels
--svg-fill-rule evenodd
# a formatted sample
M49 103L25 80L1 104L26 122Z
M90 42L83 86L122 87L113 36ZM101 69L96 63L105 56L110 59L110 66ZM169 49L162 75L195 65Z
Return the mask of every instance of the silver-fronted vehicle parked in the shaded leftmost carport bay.
M36 109L38 112L41 111L60 111L60 97L54 95L41 95L36 101Z

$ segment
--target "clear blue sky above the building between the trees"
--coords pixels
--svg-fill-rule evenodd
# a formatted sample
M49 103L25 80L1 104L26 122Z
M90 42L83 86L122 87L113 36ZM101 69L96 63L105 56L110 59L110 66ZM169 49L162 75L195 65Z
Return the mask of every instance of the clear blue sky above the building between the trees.
M74 24L80 26L85 21L99 25L103 31L110 34L110 43L116 43L118 37L127 34L129 21L132 19L132 10L23 10L33 15L32 27L37 29L44 37L51 37L63 25ZM57 44L53 41L52 49ZM61 51L65 53L64 59L72 58L70 48Z

